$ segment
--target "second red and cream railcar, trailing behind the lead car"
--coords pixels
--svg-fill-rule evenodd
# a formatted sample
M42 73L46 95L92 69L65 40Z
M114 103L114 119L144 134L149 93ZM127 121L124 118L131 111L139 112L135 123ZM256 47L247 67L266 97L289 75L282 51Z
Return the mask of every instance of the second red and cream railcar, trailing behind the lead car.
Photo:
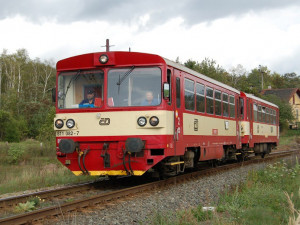
M241 92L241 136L243 150L264 156L278 145L279 108L277 105Z

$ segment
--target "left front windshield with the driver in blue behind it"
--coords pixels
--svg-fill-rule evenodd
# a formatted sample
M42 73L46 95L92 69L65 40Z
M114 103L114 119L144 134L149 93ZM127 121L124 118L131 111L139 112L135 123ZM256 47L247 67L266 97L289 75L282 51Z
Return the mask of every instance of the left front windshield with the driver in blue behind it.
M58 108L100 108L103 103L104 73L62 72L58 76Z

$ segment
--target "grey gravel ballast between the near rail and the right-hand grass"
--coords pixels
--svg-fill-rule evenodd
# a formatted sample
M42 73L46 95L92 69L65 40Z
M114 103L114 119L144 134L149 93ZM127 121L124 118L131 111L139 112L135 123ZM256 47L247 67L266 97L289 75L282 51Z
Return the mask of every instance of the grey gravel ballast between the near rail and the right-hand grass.
M284 158L285 161L293 159L295 156ZM172 185L168 189L139 194L104 209L94 208L90 212L70 213L60 216L60 221L55 224L151 224L157 213L170 215L177 210L197 207L199 204L214 206L220 192L244 182L249 172L263 169L270 163L274 162L247 165Z

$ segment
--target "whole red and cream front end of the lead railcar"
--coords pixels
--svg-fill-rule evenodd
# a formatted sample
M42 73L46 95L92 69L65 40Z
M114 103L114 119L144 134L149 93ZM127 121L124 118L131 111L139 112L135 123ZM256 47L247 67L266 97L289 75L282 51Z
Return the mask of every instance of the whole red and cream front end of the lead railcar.
M131 52L57 63L57 157L75 175L142 175L174 155L165 61ZM165 88L165 89L164 89Z

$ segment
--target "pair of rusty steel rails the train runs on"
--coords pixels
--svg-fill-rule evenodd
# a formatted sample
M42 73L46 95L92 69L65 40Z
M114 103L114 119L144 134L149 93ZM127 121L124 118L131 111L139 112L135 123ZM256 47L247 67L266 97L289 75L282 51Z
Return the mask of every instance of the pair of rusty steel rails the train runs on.
M191 180L191 179L198 179L198 178L201 178L204 176L209 176L212 174L220 173L225 170L242 167L242 166L249 165L249 164L267 162L267 161L271 161L271 160L278 159L281 157L285 157L285 156L289 156L289 155L293 155L293 154L299 154L299 153L300 153L300 150L277 152L277 153L273 153L273 154L269 155L267 158L264 158L264 159L256 158L256 159L252 159L252 160L244 161L244 162L240 162L240 163L228 164L228 165L219 166L216 168L210 168L210 169L205 169L205 170L201 170L201 171L186 173L183 175L168 178L166 180L154 181L154 182L141 184L141 185L137 185L137 186L129 187L129 188L121 188L120 190L107 191L104 193L99 193L99 194L95 194L90 197L86 197L84 199L78 199L78 200L74 200L72 202L67 202L67 203L63 203L60 205L55 205L55 206L35 210L32 212L28 212L28 213L24 213L24 214L20 214L20 215L2 218L2 219L0 219L0 224L1 225L2 224L26 224L26 223L32 223L35 221L43 220L46 217L58 216L61 214L80 210L83 208L93 207L96 205L101 205L101 206L105 207L109 203L111 203L115 200L118 200L118 199L122 199L124 197L135 196L139 193L153 191L158 188L164 188L166 186L182 183L182 182L185 182L185 181ZM72 191L76 192L76 190L77 190L77 192L78 191L80 192L81 191L80 188L85 188L86 190L90 190L90 189L88 189L88 186L93 187L93 185L91 183L81 184L79 186L81 186L81 187L74 186L74 189ZM50 194L50 192L51 192L50 195L52 195L52 196L65 195L65 193L59 194L59 193L63 193L64 191L66 191L63 189L64 188L58 190L57 193L55 193L55 190L49 191L48 194ZM67 192L70 193L70 190L71 190L70 187L67 187L67 189L69 189L69 191L67 191ZM39 195L37 192L37 193L31 194L31 197L39 196L40 198L45 198L45 197L42 197L44 194L46 194L46 193L41 193L41 195ZM1 199L0 202L2 205L5 205L5 204L8 205L8 204L12 204L12 202L21 202L21 199L22 200L28 199L28 197L29 196L27 195L26 197L20 196L19 199L18 199L18 197L13 197L14 198L13 200L12 200L12 198L6 199L6 200ZM8 203L9 201L10 201L10 203Z

